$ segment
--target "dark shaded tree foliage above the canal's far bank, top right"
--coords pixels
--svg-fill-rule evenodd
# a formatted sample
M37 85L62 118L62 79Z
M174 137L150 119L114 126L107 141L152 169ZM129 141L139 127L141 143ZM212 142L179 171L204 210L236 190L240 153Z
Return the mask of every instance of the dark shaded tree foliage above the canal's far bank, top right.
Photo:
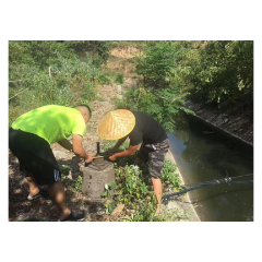
M192 41L183 56L183 83L202 103L252 104L254 41Z

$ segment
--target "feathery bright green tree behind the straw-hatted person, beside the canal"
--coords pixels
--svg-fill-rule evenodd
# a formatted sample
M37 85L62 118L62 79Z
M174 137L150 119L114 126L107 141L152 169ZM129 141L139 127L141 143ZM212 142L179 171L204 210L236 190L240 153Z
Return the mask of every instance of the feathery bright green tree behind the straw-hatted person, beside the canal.
M150 41L143 55L136 56L136 73L143 75L143 84L129 87L123 100L115 99L117 108L143 111L156 119L165 130L172 131L175 116L180 111L193 114L183 107L179 79L176 76L183 49L174 41Z

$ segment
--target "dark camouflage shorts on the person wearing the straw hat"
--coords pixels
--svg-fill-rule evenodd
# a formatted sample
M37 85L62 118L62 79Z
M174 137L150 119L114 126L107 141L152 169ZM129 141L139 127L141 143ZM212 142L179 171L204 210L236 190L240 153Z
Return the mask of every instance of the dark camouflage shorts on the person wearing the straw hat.
M155 144L142 143L138 157L144 163L148 162L148 171L151 178L160 178L165 155L168 148L168 139Z

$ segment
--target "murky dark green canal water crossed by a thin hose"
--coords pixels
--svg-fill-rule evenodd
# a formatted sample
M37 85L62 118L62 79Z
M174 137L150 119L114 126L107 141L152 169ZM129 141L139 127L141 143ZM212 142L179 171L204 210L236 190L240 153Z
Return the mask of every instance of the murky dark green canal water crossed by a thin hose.
M227 176L234 181L254 180L251 145L196 117L186 116L186 119L188 128L168 133L170 151L186 184L195 186ZM202 222L254 221L254 183L221 183L188 194Z

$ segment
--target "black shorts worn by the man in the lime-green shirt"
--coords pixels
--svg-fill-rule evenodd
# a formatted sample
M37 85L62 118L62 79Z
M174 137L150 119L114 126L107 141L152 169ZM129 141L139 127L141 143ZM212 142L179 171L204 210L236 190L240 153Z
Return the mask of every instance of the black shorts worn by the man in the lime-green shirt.
M36 134L11 129L9 148L19 158L20 170L33 175L38 184L51 184L61 179L56 157L49 143Z

